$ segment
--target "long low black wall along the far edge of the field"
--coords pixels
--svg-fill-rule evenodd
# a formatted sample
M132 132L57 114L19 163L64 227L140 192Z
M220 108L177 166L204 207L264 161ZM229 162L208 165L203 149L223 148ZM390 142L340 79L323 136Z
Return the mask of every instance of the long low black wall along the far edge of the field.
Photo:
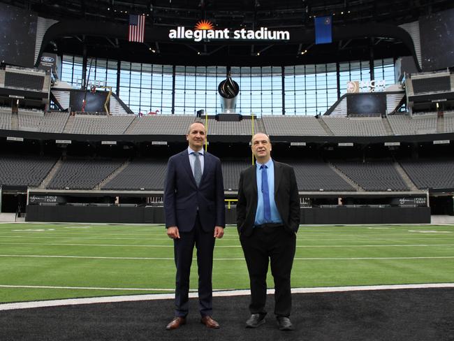
M162 207L27 205L27 222L164 224ZM235 208L226 223L236 224ZM301 224L430 224L430 208L301 208Z

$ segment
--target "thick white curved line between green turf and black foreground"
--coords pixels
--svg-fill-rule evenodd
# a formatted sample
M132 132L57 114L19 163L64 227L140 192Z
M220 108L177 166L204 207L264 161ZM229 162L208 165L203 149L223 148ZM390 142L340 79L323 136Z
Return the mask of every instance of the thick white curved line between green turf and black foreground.
M348 291L370 291L370 290L398 290L398 289L431 289L431 288L454 288L454 283L432 283L432 284L393 284L393 285L372 285L372 286L325 286L318 288L293 288L292 293L330 293ZM269 289L268 294L274 293ZM249 290L214 291L213 296L246 296L250 295ZM196 298L198 293L189 293L189 297ZM135 302L143 300L168 300L175 298L173 293L156 293L147 295L131 296L109 296L94 298L69 298L64 300L43 300L34 302L4 303L0 304L0 310L29 309L38 307L59 307L63 305L82 305L94 303L115 303Z

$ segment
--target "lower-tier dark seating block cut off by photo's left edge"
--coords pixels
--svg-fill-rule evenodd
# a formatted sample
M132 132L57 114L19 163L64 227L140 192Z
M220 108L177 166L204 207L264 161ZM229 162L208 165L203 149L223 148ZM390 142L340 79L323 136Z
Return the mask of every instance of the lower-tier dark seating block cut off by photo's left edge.
M57 162L52 157L1 155L0 158L0 186L37 187Z

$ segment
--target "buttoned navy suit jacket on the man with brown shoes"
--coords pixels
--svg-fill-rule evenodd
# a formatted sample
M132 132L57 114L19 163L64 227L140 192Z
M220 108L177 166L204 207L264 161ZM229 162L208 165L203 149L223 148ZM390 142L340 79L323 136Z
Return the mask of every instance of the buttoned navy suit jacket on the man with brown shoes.
M166 227L177 226L180 231L191 231L197 208L204 231L214 226L225 226L224 181L221 161L204 153L204 166L200 185L194 179L187 150L170 157L164 186L164 212Z

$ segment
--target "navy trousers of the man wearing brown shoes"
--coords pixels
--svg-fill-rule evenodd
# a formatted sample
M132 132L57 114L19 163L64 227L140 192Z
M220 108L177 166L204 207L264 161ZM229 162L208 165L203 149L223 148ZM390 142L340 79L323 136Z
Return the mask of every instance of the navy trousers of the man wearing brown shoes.
M180 239L174 240L175 266L175 316L186 317L189 312L189 276L194 245L197 248L198 300L202 316L212 314L212 270L214 231L205 232L196 217L196 224L189 232L180 231Z

